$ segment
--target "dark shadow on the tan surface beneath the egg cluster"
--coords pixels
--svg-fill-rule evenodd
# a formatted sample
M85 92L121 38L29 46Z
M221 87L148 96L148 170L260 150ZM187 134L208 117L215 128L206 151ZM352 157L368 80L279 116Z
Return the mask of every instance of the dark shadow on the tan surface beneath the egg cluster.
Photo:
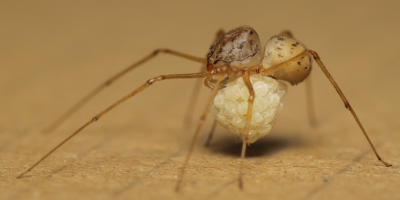
M298 135L296 136L296 134L274 133L274 135L286 136L266 136L257 140L246 147L246 158L270 156L284 149L306 145L306 142ZM239 138L229 137L226 134L223 137L215 139L207 148L216 153L240 156L242 142Z

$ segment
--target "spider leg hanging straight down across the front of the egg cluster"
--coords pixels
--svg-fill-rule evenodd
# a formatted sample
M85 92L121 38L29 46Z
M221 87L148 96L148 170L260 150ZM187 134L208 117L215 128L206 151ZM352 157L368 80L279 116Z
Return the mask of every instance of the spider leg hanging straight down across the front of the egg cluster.
M246 118L246 126L244 126L244 134L243 134L243 144L242 144L242 154L240 156L240 168L239 168L239 188L243 190L243 165L244 165L244 155L246 154L246 146L247 140L249 135L249 128L251 122L251 115L253 111L253 102L254 102L254 90L253 86L250 82L250 72L248 70L243 71L243 80L246 84L247 88L249 89L249 107L247 110L247 118Z

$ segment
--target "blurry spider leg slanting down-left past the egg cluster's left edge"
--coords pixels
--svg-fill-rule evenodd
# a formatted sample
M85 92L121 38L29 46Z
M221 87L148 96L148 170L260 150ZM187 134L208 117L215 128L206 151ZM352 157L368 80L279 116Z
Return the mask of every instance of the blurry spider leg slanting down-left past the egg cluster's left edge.
M204 121L206 120L206 117L207 117L207 114L208 114L208 112L210 110L212 101L214 100L214 97L217 94L218 86L221 84L222 80L224 80L224 74L226 74L226 69L221 70L220 74L218 74L219 76L218 76L217 82L215 84L215 87L214 87L214 89L212 89L212 92L211 92L210 96L208 97L206 106L204 107L203 113L200 116L200 119L199 119L198 124L197 124L196 131L194 132L194 136L193 136L192 142L190 143L188 154L186 154L185 161L183 162L182 167L180 169L180 173L178 175L178 180L176 181L176 186L175 186L175 191L176 192L178 192L180 190L180 185L182 184L183 175L185 173L186 167L188 166L188 162L190 160L190 156L192 155L192 152L193 152L193 149L194 149L194 144L196 144L196 140L198 138L200 129L203 126Z

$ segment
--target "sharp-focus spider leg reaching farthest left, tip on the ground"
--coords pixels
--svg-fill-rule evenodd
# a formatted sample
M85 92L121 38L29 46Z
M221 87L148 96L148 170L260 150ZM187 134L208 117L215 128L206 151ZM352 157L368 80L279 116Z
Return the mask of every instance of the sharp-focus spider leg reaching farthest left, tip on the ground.
M213 76L215 74L215 71L208 71L208 72L202 72L202 73L194 73L194 74L174 74L174 75L164 75L164 76L157 76L155 78L152 78L148 80L145 84L140 86L138 89L134 90L130 94L126 95L124 98L118 100L114 104L112 104L110 107L106 108L96 116L94 116L91 120L86 122L82 127L80 127L78 130L76 130L73 134L71 134L68 138L66 138L64 141L62 141L60 144L58 144L55 148L53 148L50 152L48 152L45 156L43 156L38 162L36 162L34 165L32 165L28 170L20 174L17 178L21 178L24 174L28 173L30 170L32 170L36 165L38 165L40 162L42 162L44 159L46 159L50 154L52 154L55 150L57 150L60 146L62 146L65 142L70 140L72 137L74 137L76 134L78 134L81 130L83 130L86 126L89 124L92 124L93 122L96 122L101 116L106 114L108 111L112 110L119 104L122 104L122 102L128 100L135 94L138 94L140 91L148 88L148 86L152 85L153 83L166 80L166 79L178 79L178 78L204 78L204 77L209 77Z

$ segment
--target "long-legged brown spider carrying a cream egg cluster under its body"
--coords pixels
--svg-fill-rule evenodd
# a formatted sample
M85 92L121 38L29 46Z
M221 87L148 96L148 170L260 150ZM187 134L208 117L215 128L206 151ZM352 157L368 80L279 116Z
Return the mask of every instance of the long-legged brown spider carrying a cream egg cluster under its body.
M150 85L167 79L206 78L204 84L210 88L212 92L200 116L196 131L190 143L190 148L180 169L175 189L176 191L180 190L180 185L193 152L194 144L209 110L223 126L231 130L231 132L239 136L242 140L238 177L239 188L242 189L244 155L247 144L255 142L270 132L280 110L282 110L283 99L286 93L285 82L296 85L304 81L311 72L312 59L316 61L336 92L338 92L344 106L351 112L378 160L388 167L392 166L382 160L378 155L378 152L375 150L374 145L356 116L356 113L340 90L338 84L336 84L321 62L318 54L312 50L308 50L306 46L295 39L290 32L285 31L272 36L266 43L264 51L261 49L261 42L257 32L250 26L240 26L226 33L220 32L218 35L218 39L211 45L206 58L191 56L170 49L157 49L148 56L142 58L142 60L139 60L135 64L132 64L125 70L114 75L112 78L106 80L106 82L95 88L66 114L56 120L48 130L58 126L65 118L70 116L80 108L80 106L100 92L100 90L110 85L128 71L154 58L160 53L172 54L201 62L206 68L204 72L164 75L151 78L132 93L126 95L124 98L118 100L116 103L94 116L17 178L21 178L24 174L32 170L32 168L37 166L65 142L81 132L86 126L96 122L101 116L138 94L140 91L148 88Z

